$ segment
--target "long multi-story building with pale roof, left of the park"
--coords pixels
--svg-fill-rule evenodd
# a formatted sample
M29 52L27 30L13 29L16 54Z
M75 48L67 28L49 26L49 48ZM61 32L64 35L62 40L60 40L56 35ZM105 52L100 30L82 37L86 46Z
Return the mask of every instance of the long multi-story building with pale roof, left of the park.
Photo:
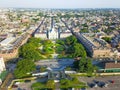
M18 37L6 38L5 40L0 42L0 56L4 58L4 60L9 60L18 56L18 48L26 43L30 34L24 33Z

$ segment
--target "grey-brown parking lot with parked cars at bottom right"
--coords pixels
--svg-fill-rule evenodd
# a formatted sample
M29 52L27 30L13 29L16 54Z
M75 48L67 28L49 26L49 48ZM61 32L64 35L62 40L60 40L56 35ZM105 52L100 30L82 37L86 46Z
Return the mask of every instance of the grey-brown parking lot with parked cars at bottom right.
M89 86L87 90L120 90L120 76L79 77L79 80ZM100 83L106 86L101 87Z

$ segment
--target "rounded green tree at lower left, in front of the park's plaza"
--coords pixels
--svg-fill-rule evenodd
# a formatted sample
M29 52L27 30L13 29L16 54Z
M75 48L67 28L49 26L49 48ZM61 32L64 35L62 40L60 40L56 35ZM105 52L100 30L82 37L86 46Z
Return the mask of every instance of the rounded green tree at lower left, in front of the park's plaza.
M31 73L34 70L35 70L34 62L31 60L23 59L17 63L14 75L16 78L23 78L29 76L30 75L29 73Z

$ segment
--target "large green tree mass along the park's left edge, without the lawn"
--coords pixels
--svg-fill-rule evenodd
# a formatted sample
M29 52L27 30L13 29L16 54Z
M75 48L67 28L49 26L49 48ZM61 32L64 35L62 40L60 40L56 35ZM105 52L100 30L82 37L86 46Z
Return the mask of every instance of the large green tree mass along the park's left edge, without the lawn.
M37 61L43 58L39 50L40 42L41 42L40 38L34 38L34 37L30 38L28 40L28 43L26 43L19 49L19 55L22 58L33 61Z

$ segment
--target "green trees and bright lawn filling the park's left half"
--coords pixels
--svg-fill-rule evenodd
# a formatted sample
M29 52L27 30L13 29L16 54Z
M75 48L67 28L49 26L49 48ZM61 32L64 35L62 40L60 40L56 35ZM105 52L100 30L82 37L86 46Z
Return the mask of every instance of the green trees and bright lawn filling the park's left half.
M40 49L41 48L41 49ZM51 40L30 38L28 42L19 49L22 58L37 61L43 58L51 58L54 53L54 44Z

